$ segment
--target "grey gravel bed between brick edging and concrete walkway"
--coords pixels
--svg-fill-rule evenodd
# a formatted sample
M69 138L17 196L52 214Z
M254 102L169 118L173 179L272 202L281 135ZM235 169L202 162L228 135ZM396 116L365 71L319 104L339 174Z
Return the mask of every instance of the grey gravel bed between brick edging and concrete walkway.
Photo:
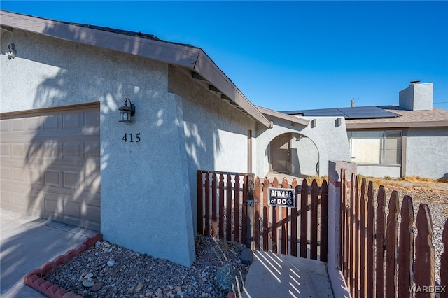
M203 236L197 236L195 246L196 261L188 268L107 241L97 242L45 278L85 298L227 297L230 290L239 293L249 268L239 260L243 246Z

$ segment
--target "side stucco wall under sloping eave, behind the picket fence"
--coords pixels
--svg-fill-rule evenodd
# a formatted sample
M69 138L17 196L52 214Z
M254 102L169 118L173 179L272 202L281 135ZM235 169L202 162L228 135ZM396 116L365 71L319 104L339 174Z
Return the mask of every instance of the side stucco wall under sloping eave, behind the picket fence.
M247 131L255 131L255 121L174 66L169 67L168 89L183 99L183 131L196 231L196 171L247 173Z

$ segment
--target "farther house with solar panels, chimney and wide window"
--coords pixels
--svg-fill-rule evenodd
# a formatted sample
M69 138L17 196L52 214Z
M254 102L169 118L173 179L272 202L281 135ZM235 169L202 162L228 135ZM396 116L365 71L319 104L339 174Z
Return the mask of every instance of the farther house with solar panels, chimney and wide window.
M433 83L411 82L399 92L398 106L283 113L344 118L351 161L364 176L448 177L448 111L433 108Z

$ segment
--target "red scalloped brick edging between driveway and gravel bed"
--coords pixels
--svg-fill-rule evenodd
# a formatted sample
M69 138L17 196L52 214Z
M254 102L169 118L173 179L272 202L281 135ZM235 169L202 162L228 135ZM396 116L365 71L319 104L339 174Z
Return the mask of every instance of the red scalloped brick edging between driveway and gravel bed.
M45 281L43 276L48 274L48 272L52 269L58 267L60 264L63 264L80 253L83 253L83 251L87 250L87 248L92 248L97 241L102 240L102 234L94 234L92 237L85 239L83 244L80 244L77 248L67 251L65 255L59 255L58 257L55 257L55 260L46 262L38 269L29 271L25 275L23 283L50 298L82 298L82 296L76 295L73 292L67 292L64 288L59 288L59 285L53 285L50 281Z

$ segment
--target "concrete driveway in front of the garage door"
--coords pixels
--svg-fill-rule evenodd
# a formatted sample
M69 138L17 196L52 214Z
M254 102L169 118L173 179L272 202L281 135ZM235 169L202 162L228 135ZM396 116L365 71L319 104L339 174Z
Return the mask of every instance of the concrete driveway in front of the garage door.
M23 284L25 274L97 234L90 229L5 210L0 210L0 218L2 298L45 297Z

